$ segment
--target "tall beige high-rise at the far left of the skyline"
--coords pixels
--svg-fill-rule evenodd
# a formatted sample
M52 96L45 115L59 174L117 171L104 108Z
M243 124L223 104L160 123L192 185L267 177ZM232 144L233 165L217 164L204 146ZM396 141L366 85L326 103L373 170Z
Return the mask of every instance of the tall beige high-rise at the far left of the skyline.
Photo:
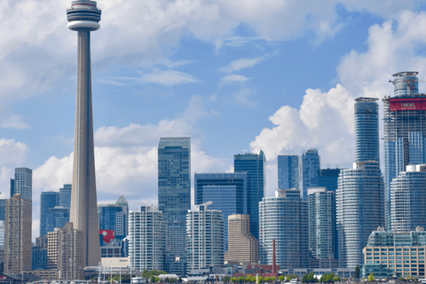
M5 273L31 270L31 201L13 194L4 208Z

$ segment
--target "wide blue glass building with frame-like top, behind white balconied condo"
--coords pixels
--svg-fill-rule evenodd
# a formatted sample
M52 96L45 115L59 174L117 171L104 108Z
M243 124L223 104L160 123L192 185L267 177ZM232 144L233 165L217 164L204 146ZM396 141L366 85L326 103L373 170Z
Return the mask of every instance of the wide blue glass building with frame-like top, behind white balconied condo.
M228 243L228 216L247 214L247 173L195 173L195 205L208 201L209 209L221 210L225 225L225 250Z

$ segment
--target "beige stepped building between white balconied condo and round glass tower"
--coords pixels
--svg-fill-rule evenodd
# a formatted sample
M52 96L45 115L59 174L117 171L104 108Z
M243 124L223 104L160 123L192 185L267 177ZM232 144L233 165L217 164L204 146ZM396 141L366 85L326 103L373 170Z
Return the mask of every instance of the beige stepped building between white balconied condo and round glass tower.
M228 251L225 253L225 264L259 262L259 241L249 232L249 223L248 215L228 216Z

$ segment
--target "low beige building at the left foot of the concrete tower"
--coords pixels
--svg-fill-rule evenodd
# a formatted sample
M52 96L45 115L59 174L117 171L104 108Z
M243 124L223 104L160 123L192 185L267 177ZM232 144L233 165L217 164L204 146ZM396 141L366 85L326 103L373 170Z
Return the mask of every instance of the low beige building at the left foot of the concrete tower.
M74 229L73 223L49 232L47 261L50 269L58 269L60 280L83 278L83 241L82 231Z

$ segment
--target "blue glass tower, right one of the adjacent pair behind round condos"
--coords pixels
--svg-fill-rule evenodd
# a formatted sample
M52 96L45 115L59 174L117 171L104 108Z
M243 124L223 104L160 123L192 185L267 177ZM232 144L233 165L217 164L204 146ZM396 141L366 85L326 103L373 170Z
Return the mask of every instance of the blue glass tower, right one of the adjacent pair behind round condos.
M321 165L317 149L304 150L302 154L302 192L304 201L308 200L308 188L318 186L318 170Z

